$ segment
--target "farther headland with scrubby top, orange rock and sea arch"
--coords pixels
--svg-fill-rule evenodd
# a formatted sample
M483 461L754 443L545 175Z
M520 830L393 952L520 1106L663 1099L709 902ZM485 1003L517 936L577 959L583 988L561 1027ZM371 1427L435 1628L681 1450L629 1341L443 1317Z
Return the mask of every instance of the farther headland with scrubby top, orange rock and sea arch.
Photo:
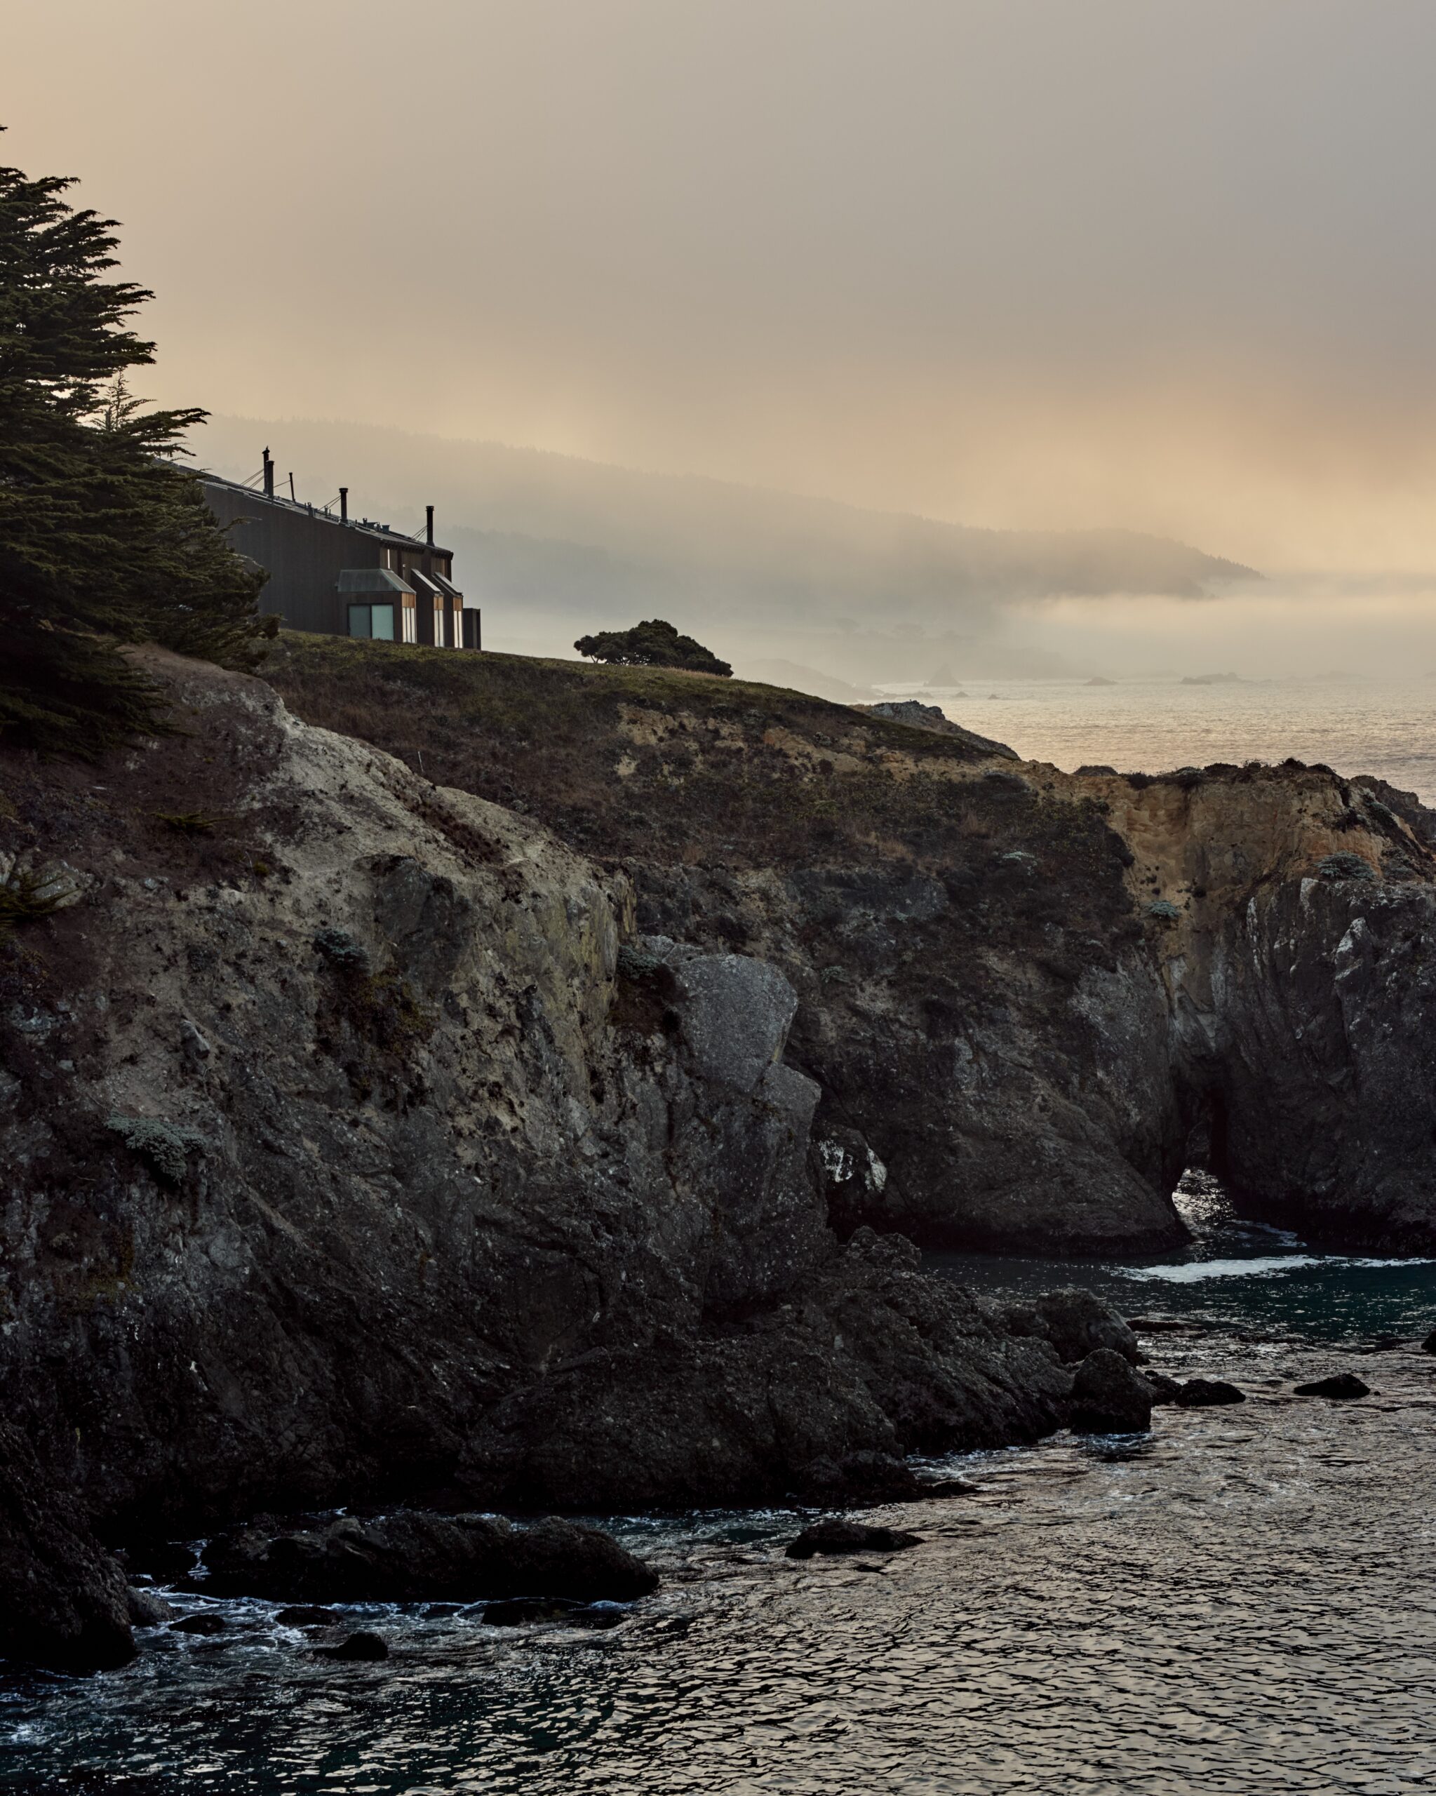
M643 929L779 966L840 1228L1161 1248L1199 1135L1253 1212L1436 1241L1409 796L1296 763L1075 778L774 688L504 656L291 638L271 679L583 842Z

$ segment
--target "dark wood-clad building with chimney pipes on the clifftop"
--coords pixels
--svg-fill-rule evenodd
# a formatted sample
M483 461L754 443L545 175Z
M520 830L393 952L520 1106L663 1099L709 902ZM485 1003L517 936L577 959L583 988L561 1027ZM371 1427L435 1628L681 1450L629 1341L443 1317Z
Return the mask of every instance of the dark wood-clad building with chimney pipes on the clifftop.
M454 585L454 555L434 542L434 508L418 537L368 517L275 494L275 463L264 451L258 492L219 474L201 474L205 497L241 555L267 568L260 609L294 630L375 636L393 643L479 648L479 612ZM293 483L291 483L293 485Z

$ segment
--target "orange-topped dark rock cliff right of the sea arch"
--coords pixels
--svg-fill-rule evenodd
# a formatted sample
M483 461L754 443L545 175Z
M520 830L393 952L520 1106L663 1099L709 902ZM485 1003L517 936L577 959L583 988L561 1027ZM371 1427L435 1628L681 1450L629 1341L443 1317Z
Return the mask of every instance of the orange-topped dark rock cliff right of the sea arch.
M1215 1169L1251 1214L1431 1252L1436 817L1296 763L1093 785L1143 905L1178 912L1156 964Z

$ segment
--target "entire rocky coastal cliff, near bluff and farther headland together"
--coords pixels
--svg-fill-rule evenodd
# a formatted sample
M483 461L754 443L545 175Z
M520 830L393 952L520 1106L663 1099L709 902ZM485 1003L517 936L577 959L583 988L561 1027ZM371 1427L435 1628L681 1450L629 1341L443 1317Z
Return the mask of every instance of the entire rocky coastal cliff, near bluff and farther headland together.
M912 1496L905 1455L1048 1435L1131 1354L906 1237L1170 1245L1195 1128L1253 1211L1431 1241L1431 858L1328 772L1073 781L382 645L144 661L176 735L0 754L7 880L57 900L4 946L9 1654L122 1660L108 1548L257 1512Z

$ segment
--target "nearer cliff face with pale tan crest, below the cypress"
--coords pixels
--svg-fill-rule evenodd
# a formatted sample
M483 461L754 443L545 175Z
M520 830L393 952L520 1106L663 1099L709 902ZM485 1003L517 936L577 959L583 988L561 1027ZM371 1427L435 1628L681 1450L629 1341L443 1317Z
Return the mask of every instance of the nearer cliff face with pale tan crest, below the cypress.
M621 952L621 871L147 659L176 735L2 763L7 889L65 902L0 954L0 1378L108 1537L840 1492L1061 1419L1048 1347L827 1230L775 968Z

